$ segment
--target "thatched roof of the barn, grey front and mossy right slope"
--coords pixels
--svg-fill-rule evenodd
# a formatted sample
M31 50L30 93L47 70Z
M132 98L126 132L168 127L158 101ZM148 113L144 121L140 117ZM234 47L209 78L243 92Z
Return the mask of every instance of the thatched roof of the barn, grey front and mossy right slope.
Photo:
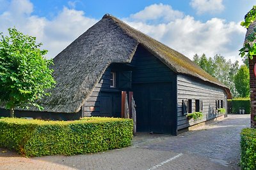
M111 15L104 17L54 58L52 95L40 101L44 111L74 113L113 62L129 63L138 45L147 48L175 73L228 88L181 53L133 29ZM32 108L36 110L36 108Z

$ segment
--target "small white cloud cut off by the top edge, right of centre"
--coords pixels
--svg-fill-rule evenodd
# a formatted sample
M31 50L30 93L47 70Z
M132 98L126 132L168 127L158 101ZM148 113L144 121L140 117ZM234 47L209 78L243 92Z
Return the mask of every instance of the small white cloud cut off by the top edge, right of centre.
M225 9L223 0L191 0L190 5L198 14L219 13Z

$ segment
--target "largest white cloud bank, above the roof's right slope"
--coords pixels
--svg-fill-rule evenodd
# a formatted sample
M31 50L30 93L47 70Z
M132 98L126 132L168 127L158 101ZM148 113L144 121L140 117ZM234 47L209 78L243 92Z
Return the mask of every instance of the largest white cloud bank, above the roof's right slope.
M144 18L150 20L155 17L148 15ZM132 27L184 53L190 59L193 59L195 53L198 55L205 53L207 57L221 54L233 62L241 61L238 50L243 45L246 29L241 27L239 22L227 22L220 18L200 22L187 15L166 23L148 24L144 18L141 20L138 18L132 20L132 17L125 19Z

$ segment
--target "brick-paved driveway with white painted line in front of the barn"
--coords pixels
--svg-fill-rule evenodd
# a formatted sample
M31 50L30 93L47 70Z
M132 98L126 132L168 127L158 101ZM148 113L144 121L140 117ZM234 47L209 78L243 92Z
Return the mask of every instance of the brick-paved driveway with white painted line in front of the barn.
M70 157L28 159L0 148L0 169L239 169L239 132L249 125L250 115L228 115L179 136L138 134L128 148Z

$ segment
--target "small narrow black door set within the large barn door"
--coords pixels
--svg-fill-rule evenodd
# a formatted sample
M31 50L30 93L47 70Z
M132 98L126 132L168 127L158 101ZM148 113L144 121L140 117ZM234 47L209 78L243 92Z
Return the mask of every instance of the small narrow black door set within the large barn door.
M150 132L163 133L163 99L150 100Z

